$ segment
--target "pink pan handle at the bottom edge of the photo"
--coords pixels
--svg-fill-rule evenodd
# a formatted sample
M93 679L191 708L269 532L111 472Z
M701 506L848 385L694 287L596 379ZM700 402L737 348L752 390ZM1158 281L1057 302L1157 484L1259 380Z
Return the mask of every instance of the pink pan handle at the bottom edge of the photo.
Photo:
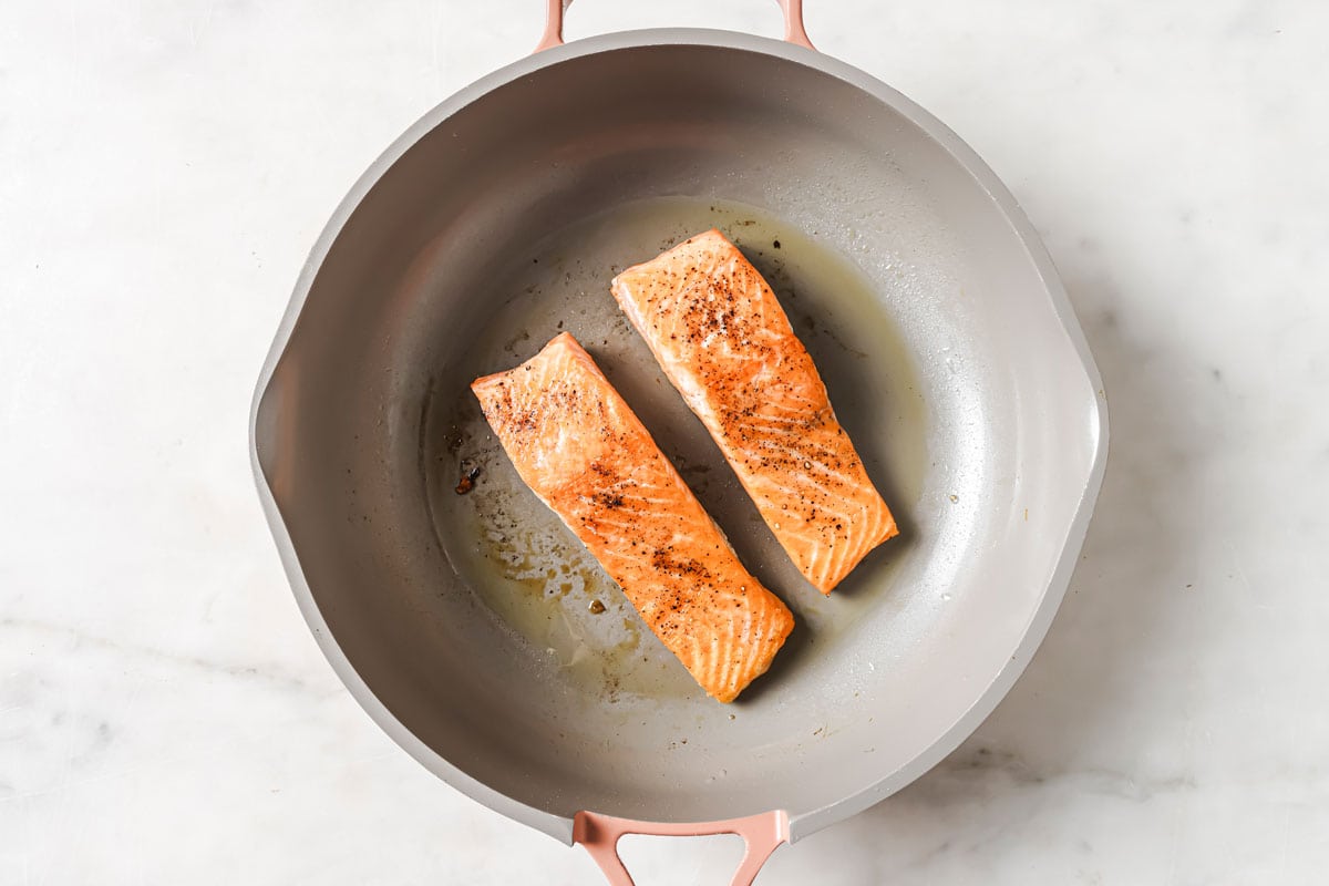
M557 0L556 0L557 3ZM730 886L752 886L762 865L780 843L789 842L789 814L781 809L764 812L747 818L728 821L708 821L695 825L663 825L651 821L614 818L593 812L579 812L573 818L573 842L581 843L590 857L605 871L610 886L633 886L633 875L618 857L618 838L623 834L645 834L649 837L710 837L712 834L738 834L743 838L743 861L730 881Z

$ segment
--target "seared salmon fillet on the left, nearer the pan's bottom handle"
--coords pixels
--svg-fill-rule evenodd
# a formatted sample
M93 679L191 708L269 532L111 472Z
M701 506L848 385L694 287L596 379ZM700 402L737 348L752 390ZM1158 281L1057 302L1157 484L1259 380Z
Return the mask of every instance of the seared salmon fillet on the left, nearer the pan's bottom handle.
M470 389L521 478L710 696L732 701L766 672L793 616L573 336Z

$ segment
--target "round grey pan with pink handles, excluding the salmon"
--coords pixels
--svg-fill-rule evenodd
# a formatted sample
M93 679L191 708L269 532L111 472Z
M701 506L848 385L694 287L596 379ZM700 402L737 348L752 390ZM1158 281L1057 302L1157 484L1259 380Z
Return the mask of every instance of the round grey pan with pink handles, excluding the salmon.
M781 842L954 749L1042 640L1107 446L1098 372L1014 198L900 93L699 29L562 45L466 86L355 185L251 420L300 608L351 693L448 784L631 879L622 833ZM719 226L772 282L901 523L804 584L609 279ZM797 628L708 700L525 490L466 384L573 331ZM459 473L480 469L459 494Z

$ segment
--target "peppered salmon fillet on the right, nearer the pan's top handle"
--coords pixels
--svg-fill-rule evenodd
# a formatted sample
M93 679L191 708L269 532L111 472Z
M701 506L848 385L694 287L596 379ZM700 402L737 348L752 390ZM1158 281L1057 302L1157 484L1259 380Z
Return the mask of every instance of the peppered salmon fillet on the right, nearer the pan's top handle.
M897 534L771 287L716 230L630 267L614 298L823 594Z

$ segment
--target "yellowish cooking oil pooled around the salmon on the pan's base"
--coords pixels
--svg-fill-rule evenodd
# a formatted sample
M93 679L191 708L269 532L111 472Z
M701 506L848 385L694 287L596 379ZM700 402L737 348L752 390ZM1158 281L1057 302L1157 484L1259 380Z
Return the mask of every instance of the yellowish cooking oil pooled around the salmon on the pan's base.
M687 236L718 227L771 283L812 353L836 413L901 518L888 542L829 599L808 586L766 529L704 428L661 373L610 295L610 279ZM610 700L695 697L702 691L637 618L618 586L522 484L466 383L508 369L569 331L595 357L797 627L767 680L849 630L889 594L908 546L909 505L924 477L924 404L908 351L872 283L824 244L751 206L698 198L627 203L536 244L488 295L500 307L470 336L455 381L436 391L427 460L440 541L461 576L541 667ZM474 486L459 476L478 466Z

